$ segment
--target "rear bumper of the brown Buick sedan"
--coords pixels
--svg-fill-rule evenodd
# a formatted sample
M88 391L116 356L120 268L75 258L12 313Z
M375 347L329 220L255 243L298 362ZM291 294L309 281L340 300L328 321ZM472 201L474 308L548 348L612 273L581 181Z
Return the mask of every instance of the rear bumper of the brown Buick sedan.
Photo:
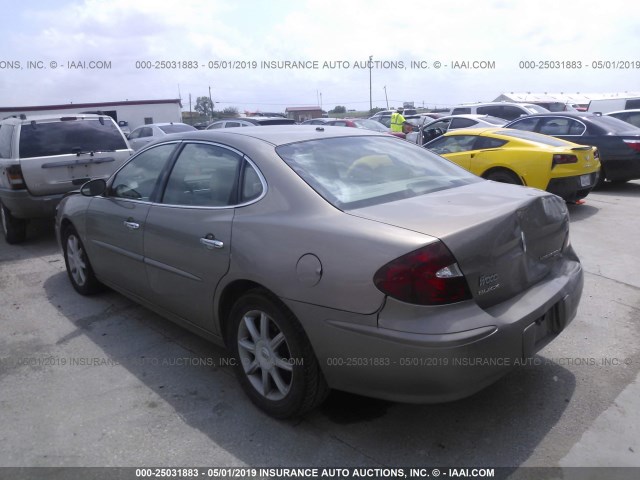
M486 310L473 301L415 307L387 299L376 326L366 316L287 304L302 322L330 387L436 403L467 397L527 364L573 320L582 288L582 268L571 260L518 297Z

